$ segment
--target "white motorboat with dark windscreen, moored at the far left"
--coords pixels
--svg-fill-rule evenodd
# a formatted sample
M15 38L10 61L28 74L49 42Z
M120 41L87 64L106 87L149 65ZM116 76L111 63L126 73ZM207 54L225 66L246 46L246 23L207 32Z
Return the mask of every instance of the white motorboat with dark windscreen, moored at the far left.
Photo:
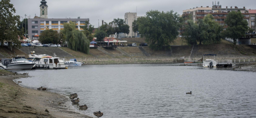
M31 70L35 63L29 62L25 57L14 57L12 59L2 59L1 69L6 70Z

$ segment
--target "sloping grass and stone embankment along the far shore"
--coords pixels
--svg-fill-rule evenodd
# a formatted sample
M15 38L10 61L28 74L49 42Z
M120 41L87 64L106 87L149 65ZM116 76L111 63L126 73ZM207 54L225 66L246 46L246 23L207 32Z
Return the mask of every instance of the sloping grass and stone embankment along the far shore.
M116 49L90 49L89 54L74 51L66 47L22 47L16 49L15 54L28 54L35 51L34 54L55 53L57 57L76 58L85 64L133 64L133 63L175 63L177 59L185 56L185 60L199 60L203 54L216 54L216 59L256 59L256 49L248 45L239 45L236 48L230 43L195 45L193 46L171 46L168 50L152 50L150 47L118 47ZM3 47L0 49L3 50ZM8 54L8 49L0 52L1 57L10 58L14 53ZM9 51L11 52L11 51Z

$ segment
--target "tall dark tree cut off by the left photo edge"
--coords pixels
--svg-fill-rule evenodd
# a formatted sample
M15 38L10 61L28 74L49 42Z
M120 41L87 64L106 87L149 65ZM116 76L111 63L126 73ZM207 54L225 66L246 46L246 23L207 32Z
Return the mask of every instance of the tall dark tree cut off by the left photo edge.
M20 41L18 40L18 26L20 22L20 16L14 15L16 10L13 7L13 4L10 4L10 0L1 0L0 1L0 41L1 46L3 46L4 41L9 42L8 48L12 50L12 43L16 43L20 46Z

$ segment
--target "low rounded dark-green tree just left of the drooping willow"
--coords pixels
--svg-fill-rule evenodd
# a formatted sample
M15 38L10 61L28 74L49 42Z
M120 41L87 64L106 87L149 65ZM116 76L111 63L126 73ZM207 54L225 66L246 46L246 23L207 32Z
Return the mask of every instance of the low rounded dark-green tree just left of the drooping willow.
M43 44L58 44L60 43L60 34L52 29L44 30L39 36L39 41Z

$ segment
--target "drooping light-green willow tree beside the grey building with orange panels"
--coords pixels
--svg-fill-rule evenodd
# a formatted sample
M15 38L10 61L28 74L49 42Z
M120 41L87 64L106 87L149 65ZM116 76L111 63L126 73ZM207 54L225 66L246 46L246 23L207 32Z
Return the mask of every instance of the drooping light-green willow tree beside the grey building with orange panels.
M70 21L69 23L64 23L64 29L61 33L65 34L68 48L86 54L89 53L90 41L82 31L76 29L76 24L74 22Z

